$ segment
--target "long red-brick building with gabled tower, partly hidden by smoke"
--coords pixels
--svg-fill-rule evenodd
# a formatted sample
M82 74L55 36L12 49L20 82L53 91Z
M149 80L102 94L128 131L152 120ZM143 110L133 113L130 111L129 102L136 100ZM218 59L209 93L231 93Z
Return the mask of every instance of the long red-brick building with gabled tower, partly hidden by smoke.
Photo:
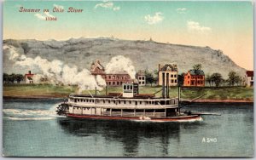
M121 86L123 83L131 83L132 79L127 73L107 74L100 60L95 60L90 66L92 75L101 75L108 86Z

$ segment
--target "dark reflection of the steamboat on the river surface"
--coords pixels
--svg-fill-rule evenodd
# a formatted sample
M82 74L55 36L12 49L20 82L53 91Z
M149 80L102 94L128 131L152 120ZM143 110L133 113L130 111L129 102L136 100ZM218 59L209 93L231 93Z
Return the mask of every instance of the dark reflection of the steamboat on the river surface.
M169 155L168 147L172 141L175 144L180 140L180 129L200 126L195 123L149 123L134 121L112 121L95 119L58 118L57 122L65 134L85 137L100 135L105 141L111 143L118 141L123 145L123 155L137 156L139 146L150 141L152 146L160 146L163 154ZM91 144L93 146L94 144ZM158 148L159 149L159 148Z

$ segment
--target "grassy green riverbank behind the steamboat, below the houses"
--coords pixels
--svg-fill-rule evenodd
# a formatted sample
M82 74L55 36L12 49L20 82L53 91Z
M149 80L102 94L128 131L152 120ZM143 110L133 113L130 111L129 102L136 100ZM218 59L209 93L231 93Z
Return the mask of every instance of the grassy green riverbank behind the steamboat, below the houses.
M140 87L140 94L154 94L160 91L161 87ZM76 86L58 86L51 84L4 84L3 96L10 97L65 97L68 94L78 93ZM108 93L120 93L121 87L108 87ZM95 94L95 90L90 90ZM100 94L106 94L106 90L99 91ZM82 94L89 94L89 91L83 91ZM98 94L98 93L97 93ZM250 100L253 101L253 88L245 87L219 87L219 88L182 88L181 98L184 100L193 100L196 97L206 94L201 100ZM161 91L156 94L161 96ZM170 89L170 96L177 97L177 87Z

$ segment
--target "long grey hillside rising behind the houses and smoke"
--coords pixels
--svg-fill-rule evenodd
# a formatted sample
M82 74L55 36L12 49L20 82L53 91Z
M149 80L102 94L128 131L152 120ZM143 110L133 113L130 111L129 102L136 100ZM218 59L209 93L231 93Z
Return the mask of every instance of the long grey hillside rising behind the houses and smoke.
M49 61L61 60L69 66L79 69L90 69L93 60L99 59L106 66L111 58L124 55L132 60L136 70L158 69L159 63L177 63L178 71L186 72L197 63L202 64L206 74L221 73L224 78L229 71L236 71L242 77L245 69L237 66L220 50L209 47L185 46L170 43L156 43L153 41L130 41L113 38L79 38L67 41L38 41L38 40L4 40L4 46L13 46L19 54L35 58L40 56ZM3 50L4 72L26 72L26 67L14 66L9 60L7 52Z

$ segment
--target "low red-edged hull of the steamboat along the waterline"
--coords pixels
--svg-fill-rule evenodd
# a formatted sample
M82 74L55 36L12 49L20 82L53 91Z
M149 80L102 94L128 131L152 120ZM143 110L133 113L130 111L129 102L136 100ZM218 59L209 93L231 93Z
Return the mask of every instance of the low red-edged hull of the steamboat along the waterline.
M195 122L201 121L200 115L179 116L179 117L109 117L109 116L96 116L96 115L76 115L67 113L67 117L77 119L100 119L100 120L131 120L142 122Z

